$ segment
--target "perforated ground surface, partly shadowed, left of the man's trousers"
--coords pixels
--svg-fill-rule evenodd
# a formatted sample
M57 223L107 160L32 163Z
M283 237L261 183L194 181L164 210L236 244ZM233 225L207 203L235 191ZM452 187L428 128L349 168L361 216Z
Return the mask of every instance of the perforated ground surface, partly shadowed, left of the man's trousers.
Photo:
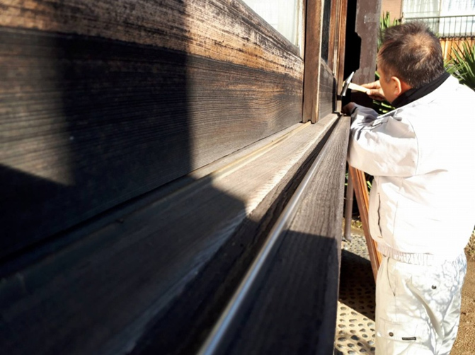
M374 354L374 279L365 237L343 241L335 354Z

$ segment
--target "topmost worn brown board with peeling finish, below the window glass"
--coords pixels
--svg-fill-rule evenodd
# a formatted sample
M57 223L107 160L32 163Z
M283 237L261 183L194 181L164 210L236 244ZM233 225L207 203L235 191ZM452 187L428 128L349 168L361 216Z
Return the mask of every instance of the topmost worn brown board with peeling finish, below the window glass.
M302 78L298 49L236 0L12 0L0 26L152 45Z

